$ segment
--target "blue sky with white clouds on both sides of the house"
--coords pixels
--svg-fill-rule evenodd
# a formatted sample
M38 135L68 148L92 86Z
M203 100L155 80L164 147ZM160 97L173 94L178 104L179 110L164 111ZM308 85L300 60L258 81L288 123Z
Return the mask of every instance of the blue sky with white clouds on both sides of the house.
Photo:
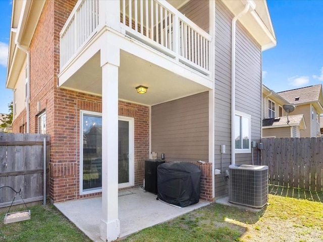
M323 83L323 0L268 0L278 44L262 53L263 84L275 92ZM12 1L0 0L0 113L8 113L6 89Z

